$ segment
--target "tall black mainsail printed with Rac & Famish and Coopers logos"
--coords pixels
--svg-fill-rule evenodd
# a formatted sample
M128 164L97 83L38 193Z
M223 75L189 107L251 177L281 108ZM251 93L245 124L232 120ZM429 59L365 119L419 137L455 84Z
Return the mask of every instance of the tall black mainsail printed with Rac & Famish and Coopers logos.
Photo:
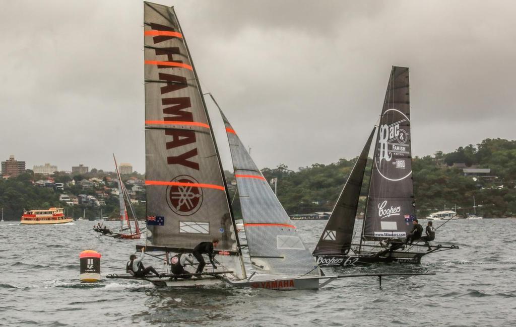
M376 143L363 238L405 237L415 218L409 68L393 66Z

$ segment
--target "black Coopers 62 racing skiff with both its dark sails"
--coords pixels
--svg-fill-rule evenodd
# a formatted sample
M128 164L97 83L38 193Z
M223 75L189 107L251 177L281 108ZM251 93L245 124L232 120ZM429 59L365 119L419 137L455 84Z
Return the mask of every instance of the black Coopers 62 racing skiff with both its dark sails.
M376 128L360 243L353 244L352 237L375 130L369 135L315 247L313 255L319 265L420 263L426 254L457 248L438 245L426 251L426 246L420 249L417 242L403 245L415 219L409 91L409 68L393 66Z

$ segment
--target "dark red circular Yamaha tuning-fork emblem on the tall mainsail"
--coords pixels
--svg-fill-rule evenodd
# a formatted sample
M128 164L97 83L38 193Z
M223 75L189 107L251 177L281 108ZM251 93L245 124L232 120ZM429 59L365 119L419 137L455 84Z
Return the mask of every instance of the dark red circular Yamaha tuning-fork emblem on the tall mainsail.
M181 216L195 214L202 205L202 188L188 185L199 184L199 182L188 175L180 175L171 180L178 185L167 187L167 203L170 209Z

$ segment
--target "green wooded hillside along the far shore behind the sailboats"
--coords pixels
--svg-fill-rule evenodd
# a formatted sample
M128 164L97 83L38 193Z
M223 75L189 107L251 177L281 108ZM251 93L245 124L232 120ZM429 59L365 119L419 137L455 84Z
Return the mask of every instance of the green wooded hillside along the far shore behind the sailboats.
M278 178L278 198L288 214L311 212L329 212L342 191L357 158L341 159L328 165L313 164L310 167L299 167L296 171L286 165L276 168L264 168L262 173L270 181ZM368 192L371 159L367 165L362 185L358 215L364 212L365 198ZM454 164L463 163L466 166L490 168L491 178L472 178L464 176L462 168ZM475 197L477 214L485 217L516 216L516 141L503 139L486 139L476 145L459 147L449 153L438 151L433 155L415 157L412 159L414 195L417 216L426 217L434 211L454 209L457 206L459 215L473 213L473 197ZM143 178L135 173L135 177ZM231 199L234 198L236 187L231 185L232 174L225 172L228 179ZM66 183L72 178L76 181L83 178L98 177L106 180L110 176L95 170L85 176L70 176L57 173L53 176L55 182ZM114 176L111 176L114 177ZM496 178L494 178L496 177ZM95 196L95 189L84 190L78 185L66 186L65 191L57 191L47 187L34 186L31 181L42 179L27 170L19 177L0 180L0 207L4 208L6 220L20 220L23 210L47 209L51 206L63 206L59 202L61 193L87 194ZM139 194L144 200L144 194ZM106 205L100 208L83 206L65 206L68 216L82 217L86 209L86 217L93 219L103 216L116 219L119 215L118 198L106 197ZM138 218L145 217L145 204L134 206ZM241 217L238 196L233 201L235 216Z

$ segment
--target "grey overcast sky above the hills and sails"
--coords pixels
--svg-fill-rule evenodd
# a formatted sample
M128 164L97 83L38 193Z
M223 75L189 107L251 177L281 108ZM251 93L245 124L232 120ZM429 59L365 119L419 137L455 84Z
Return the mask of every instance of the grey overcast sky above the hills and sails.
M156 1L259 167L358 156L392 65L414 155L516 139L514 1ZM0 159L113 170L115 152L143 172L143 3L0 7Z

